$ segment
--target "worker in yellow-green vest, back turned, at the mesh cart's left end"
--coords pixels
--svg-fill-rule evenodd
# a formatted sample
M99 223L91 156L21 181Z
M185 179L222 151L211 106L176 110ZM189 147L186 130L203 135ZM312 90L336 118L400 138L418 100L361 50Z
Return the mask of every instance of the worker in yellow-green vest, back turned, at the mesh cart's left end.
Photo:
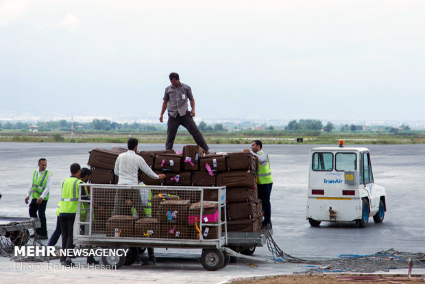
M82 183L80 180L81 167L77 163L73 163L69 167L71 176L62 180L61 189L62 196L60 198L60 230L62 231L62 250L73 248L73 226L75 215L78 208L78 186ZM71 261L71 257L62 255L61 263L65 266L75 265Z

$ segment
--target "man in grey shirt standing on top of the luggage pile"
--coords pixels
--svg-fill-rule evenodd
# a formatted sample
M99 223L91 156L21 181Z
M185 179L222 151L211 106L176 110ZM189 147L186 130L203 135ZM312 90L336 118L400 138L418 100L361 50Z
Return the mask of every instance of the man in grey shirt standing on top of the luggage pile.
M192 89L190 86L180 83L178 73L171 73L169 75L171 82L170 86L165 88L165 94L162 102L160 122L163 122L163 115L168 108L168 123L167 123L167 142L165 149L173 149L175 134L179 126L184 126L199 147L202 147L206 154L210 153L208 145L202 136L202 133L197 129L193 117L195 117L195 99L193 99ZM187 107L187 100L191 102L192 110L189 111Z

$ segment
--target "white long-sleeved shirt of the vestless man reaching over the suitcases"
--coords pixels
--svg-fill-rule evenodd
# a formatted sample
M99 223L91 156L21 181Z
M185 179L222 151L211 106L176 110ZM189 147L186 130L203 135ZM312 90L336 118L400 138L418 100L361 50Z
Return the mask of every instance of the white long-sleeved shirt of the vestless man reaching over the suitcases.
M145 160L138 156L134 151L128 150L125 153L119 154L115 161L114 173L118 176L119 185L137 185L138 169L141 169L145 174L158 180L158 175L151 170Z

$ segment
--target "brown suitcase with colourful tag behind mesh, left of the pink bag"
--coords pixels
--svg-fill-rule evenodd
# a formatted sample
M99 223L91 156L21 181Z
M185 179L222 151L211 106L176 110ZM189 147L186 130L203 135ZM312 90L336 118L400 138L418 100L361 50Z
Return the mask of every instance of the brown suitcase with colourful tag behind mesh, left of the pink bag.
M159 208L161 224L173 223L187 226L187 213L191 200L165 200Z

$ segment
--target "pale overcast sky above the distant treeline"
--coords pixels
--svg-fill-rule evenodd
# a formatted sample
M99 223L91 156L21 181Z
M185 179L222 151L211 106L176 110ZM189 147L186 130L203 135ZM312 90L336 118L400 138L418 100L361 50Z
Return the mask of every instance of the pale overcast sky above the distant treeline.
M425 120L425 1L0 0L0 117ZM420 79L422 78L422 79Z

